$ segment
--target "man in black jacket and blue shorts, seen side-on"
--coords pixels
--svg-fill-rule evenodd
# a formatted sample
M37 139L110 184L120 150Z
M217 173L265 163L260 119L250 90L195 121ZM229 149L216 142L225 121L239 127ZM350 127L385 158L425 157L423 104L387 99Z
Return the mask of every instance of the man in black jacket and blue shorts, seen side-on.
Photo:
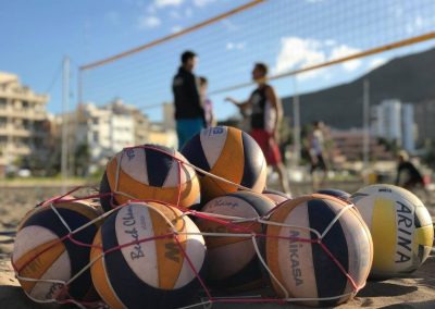
M187 140L204 128L204 110L199 96L197 78L194 75L196 62L195 52L189 50L183 52L182 65L172 84L178 149L182 149Z

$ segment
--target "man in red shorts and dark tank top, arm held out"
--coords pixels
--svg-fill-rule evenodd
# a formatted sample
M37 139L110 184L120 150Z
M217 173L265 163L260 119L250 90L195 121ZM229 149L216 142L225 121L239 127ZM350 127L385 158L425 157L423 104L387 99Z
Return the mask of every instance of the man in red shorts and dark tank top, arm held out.
M277 172L283 191L290 194L286 170L277 145L283 108L275 90L266 83L266 76L268 66L264 63L256 63L252 79L258 84L258 87L249 99L246 102L238 102L233 98L226 98L226 100L236 104L244 115L247 115L246 110L248 108L251 109L250 135L261 147L268 164Z

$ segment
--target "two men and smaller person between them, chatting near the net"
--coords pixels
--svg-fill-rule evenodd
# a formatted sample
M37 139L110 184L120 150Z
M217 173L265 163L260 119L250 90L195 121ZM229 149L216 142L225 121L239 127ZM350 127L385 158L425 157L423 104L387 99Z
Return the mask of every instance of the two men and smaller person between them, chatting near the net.
M202 128L215 124L212 103L207 97L207 79L197 78L194 74L197 55L192 51L185 51L181 60L182 65L172 85L178 148ZM283 108L275 90L266 83L266 75L268 66L264 63L256 63L252 79L258 85L257 89L244 102L233 98L226 100L237 106L244 114L250 110L250 135L261 147L268 164L278 173L283 191L289 193L287 174L277 143Z

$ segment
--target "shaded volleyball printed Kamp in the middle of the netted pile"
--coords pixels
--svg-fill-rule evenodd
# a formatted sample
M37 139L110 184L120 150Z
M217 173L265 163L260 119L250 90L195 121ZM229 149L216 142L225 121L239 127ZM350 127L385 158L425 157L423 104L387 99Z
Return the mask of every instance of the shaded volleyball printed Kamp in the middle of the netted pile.
M210 200L202 212L210 215L220 214L232 218L252 219L235 225L225 225L207 219L197 221L203 233L222 233L221 236L206 236L209 260L209 283L211 286L225 289L246 289L261 284L260 261L251 237L226 236L225 234L262 233L262 224L254 220L265 215L274 202L261 194L237 191ZM231 219L225 221L233 222ZM256 239L259 247L263 244Z

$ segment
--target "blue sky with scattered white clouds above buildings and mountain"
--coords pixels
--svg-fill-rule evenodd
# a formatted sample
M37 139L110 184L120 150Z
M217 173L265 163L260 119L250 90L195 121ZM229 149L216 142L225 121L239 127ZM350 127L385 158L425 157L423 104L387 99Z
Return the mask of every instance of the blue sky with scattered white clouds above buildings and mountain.
M0 71L49 94L49 112L62 112L62 61L71 59L70 108L78 100L78 67L177 33L245 0L3 1L0 9ZM114 98L135 104L151 121L170 102L179 54L199 55L197 75L210 91L250 82L252 64L271 74L322 63L435 29L433 0L270 0L200 30L82 72L83 100ZM434 41L396 49L273 82L279 96L350 82L389 59L434 47ZM237 114L226 96L246 99L252 87L211 96L217 119ZM303 103L303 102L302 102ZM302 106L303 108L303 106Z

